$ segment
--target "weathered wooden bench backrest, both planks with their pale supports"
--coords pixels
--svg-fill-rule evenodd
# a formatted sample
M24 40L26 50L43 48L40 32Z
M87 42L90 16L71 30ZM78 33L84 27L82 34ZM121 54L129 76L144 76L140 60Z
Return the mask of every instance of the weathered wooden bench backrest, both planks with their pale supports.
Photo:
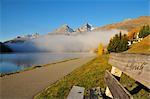
M106 95L114 99L133 99L132 95L119 83L116 77L122 72L150 89L150 55L111 53L109 64L111 73L106 71Z

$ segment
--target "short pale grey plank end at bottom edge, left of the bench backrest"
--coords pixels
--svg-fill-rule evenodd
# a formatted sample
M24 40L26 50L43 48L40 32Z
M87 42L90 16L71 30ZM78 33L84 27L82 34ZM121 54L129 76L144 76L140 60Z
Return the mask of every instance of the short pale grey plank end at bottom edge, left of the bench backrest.
M83 99L84 98L84 87L73 86L67 99Z

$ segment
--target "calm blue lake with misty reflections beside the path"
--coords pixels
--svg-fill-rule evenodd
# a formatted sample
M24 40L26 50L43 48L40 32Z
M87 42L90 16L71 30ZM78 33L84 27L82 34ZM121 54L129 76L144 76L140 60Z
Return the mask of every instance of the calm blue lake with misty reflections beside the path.
M61 60L93 56L92 53L9 53L0 54L0 73L12 73L28 67Z

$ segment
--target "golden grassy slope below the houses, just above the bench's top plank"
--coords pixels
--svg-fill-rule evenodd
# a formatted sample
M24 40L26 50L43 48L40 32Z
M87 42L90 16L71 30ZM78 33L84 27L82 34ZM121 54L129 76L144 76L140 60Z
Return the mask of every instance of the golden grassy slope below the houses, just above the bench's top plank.
M145 37L140 43L133 44L127 52L150 53L150 35Z

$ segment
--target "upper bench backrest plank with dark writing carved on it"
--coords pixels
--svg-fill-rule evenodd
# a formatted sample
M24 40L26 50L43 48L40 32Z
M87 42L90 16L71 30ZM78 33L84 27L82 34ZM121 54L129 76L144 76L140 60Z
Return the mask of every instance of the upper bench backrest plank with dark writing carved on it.
M111 53L109 64L150 89L150 55Z

